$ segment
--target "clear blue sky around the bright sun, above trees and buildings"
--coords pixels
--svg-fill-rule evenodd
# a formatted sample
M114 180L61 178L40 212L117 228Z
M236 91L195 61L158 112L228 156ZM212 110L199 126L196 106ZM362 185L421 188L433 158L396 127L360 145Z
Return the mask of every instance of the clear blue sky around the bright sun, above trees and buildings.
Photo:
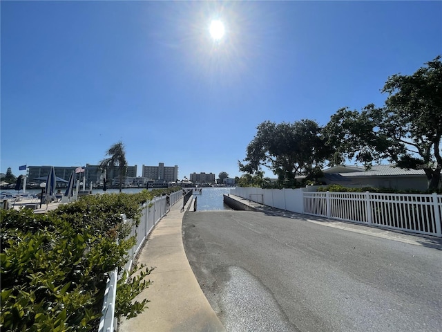
M1 172L97 164L240 176L265 120L381 106L442 54L442 1L1 1ZM226 34L215 42L212 19ZM271 172L266 176L273 177Z

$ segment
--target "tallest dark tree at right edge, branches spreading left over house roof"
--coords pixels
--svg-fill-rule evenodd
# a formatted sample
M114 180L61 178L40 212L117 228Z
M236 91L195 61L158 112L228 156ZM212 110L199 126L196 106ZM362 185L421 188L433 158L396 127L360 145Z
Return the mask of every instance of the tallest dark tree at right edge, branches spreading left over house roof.
M340 109L325 127L339 163L354 158L367 167L387 159L398 167L423 169L428 188L441 178L442 64L427 62L412 75L388 77L385 107L368 105L361 112Z

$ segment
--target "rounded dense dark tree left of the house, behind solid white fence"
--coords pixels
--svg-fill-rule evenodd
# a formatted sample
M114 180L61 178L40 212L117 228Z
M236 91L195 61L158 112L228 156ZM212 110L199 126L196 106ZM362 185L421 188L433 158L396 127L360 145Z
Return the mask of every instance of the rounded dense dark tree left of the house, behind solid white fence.
M321 128L313 120L280 124L265 121L257 129L247 146L246 158L238 162L241 172L257 174L265 166L281 183L292 186L298 175L314 177L327 157Z

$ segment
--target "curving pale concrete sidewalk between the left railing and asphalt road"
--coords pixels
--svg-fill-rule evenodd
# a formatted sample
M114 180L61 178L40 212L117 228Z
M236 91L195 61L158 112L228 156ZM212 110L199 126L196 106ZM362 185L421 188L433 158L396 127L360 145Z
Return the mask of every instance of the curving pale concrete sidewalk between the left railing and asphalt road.
M189 210L189 199L184 211ZM153 284L136 299L147 298L148 308L137 317L123 320L119 332L225 331L198 284L182 243L182 200L155 226L137 259L155 266Z

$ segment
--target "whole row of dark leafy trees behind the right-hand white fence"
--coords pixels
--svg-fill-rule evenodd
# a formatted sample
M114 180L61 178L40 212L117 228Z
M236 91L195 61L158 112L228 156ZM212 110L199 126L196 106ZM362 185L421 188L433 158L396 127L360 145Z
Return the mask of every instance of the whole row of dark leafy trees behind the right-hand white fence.
M317 183L321 169L353 160L369 169L388 160L405 169L423 169L428 189L441 181L442 63L439 55L412 75L392 75L382 89L383 107L339 109L325 126L314 120L265 121L238 160L239 185L269 185L262 166L280 187ZM302 181L296 181L302 176Z

